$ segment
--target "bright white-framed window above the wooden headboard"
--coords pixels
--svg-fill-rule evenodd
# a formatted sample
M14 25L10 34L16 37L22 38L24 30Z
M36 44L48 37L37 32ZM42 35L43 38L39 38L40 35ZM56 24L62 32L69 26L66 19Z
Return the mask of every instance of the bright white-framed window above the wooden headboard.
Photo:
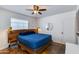
M11 18L12 30L28 29L28 21L22 19Z

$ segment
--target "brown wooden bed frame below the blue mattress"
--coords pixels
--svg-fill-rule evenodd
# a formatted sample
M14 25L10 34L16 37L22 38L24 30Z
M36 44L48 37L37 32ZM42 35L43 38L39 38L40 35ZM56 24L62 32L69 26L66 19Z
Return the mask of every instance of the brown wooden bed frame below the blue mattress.
M48 44L46 44L38 49L35 49L35 50L28 48L27 46L25 46L21 43L18 44L18 47L21 50L27 52L28 54L41 54L43 51L45 51L45 49L47 49L51 45L51 43L52 43L52 41L50 41Z

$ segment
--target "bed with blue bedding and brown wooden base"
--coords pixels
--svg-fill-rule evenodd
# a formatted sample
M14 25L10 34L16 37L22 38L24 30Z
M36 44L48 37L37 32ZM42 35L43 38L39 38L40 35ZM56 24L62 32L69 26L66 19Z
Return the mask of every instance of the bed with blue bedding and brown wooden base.
M41 53L47 48L51 42L52 37L48 34L40 33L20 33L18 35L19 46L29 53Z

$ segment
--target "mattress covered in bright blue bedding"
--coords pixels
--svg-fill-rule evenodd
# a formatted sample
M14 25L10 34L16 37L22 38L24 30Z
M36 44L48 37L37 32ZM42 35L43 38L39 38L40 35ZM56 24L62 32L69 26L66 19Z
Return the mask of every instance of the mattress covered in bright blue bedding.
M51 39L52 39L51 35L48 34L35 33L30 35L18 36L18 41L31 49L40 48L49 43Z

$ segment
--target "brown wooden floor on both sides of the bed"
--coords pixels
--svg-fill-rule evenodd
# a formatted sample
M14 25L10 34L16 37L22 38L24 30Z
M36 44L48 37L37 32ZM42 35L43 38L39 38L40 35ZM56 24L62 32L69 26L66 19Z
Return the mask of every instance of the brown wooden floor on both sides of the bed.
M53 42L42 54L64 54L65 45ZM28 52L22 51L20 48L7 48L0 50L0 54L28 54Z

